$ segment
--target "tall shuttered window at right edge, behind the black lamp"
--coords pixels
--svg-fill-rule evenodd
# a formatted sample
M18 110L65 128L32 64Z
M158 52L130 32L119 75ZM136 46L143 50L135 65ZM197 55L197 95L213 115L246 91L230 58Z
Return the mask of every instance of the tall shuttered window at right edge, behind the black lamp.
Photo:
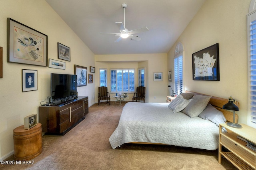
M256 12L248 15L248 125L256 128Z

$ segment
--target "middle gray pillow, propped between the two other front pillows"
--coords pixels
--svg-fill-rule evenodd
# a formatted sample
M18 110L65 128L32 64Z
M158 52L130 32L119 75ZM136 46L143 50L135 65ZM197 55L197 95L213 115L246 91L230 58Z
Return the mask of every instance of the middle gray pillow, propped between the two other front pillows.
M207 106L212 96L194 95L192 101L181 112L189 117L198 116Z

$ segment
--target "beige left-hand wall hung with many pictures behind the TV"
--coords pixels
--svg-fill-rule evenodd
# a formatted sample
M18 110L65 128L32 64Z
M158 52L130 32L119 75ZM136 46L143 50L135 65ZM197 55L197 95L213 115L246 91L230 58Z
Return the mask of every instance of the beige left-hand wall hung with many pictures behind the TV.
M19 21L48 35L48 59L58 60L57 43L70 47L71 61L66 70L7 63L7 18ZM0 47L3 47L3 78L0 78L0 159L13 153L13 129L24 117L38 114L38 106L50 96L50 73L74 74L74 64L94 66L94 54L44 0L0 1ZM22 69L38 70L38 90L22 92ZM80 96L94 104L95 84L79 87Z

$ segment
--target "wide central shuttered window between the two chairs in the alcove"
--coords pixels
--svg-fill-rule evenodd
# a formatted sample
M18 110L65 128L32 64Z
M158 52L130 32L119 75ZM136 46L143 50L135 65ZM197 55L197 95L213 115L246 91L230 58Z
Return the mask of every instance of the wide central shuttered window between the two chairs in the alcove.
M110 69L110 92L134 92L134 68Z

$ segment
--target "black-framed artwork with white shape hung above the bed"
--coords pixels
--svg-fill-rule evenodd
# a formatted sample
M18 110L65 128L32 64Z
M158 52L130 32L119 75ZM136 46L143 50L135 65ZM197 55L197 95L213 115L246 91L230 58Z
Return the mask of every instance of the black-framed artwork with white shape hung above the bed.
M193 80L220 81L219 43L192 54Z

